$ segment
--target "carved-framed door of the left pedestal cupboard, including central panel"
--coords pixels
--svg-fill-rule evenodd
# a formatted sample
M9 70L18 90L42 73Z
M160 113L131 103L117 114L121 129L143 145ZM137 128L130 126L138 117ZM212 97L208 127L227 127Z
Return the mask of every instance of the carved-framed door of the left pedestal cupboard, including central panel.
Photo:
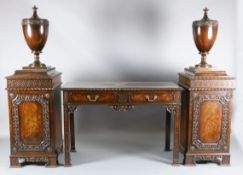
M12 151L50 149L49 94L12 95Z

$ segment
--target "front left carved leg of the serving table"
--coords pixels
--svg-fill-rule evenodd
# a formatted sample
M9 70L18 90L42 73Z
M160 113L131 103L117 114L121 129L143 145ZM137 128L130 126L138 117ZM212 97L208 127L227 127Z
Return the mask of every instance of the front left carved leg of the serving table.
M70 115L68 105L64 105L64 166L71 166L70 159Z

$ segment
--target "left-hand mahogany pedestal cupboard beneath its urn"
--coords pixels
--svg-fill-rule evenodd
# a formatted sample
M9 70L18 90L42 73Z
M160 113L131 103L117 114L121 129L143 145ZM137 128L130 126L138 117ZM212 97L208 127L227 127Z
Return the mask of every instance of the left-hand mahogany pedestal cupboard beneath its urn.
M23 69L7 77L10 166L56 166L62 151L61 74L54 68Z

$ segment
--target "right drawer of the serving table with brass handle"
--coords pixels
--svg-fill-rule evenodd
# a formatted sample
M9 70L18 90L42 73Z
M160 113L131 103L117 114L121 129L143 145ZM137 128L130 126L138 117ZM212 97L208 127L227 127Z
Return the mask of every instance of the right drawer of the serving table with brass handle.
M174 94L169 93L133 93L131 101L135 103L169 103L174 101Z

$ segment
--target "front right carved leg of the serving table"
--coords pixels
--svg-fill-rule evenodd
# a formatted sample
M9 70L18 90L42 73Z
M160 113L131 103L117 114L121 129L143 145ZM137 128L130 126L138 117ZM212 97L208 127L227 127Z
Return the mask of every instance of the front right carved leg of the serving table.
M180 122L181 122L181 106L176 105L176 109L171 110L174 114L174 146L173 146L173 165L179 163L179 144L180 144Z

